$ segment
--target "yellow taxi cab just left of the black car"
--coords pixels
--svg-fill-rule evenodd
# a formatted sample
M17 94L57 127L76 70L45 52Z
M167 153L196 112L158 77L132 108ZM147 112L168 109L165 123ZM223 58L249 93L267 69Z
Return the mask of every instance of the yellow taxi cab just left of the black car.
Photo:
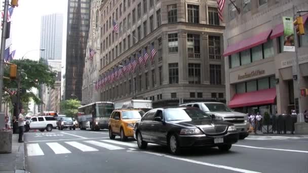
M134 125L141 119L144 111L138 109L114 110L109 119L109 138L114 139L119 135L121 141L134 137Z

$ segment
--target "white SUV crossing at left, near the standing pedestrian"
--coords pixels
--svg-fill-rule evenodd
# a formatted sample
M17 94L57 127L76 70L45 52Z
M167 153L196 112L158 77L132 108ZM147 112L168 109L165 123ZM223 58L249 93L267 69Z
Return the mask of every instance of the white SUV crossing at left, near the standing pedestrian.
M53 127L57 126L56 123L56 119L53 116L33 116L26 125L26 132L30 129L39 129L41 132L44 132L46 129L47 132L51 132Z

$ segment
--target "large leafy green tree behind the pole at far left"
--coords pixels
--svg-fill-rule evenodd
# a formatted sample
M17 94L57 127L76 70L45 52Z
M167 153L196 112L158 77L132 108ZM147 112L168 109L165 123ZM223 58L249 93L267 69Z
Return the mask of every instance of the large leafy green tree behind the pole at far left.
M40 89L42 84L53 88L55 83L56 72L48 66L43 59L33 61L29 59L13 60L11 63L16 64L20 75L20 100L23 109L28 109L31 99L35 104L44 104L40 98L31 91L33 88ZM9 66L5 67L5 76L9 76ZM16 108L18 79L4 80L4 91L10 95L10 100Z

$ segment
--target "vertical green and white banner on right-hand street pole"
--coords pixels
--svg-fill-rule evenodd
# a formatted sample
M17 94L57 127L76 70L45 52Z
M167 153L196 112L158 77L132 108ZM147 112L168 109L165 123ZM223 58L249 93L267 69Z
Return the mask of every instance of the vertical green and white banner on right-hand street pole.
M284 52L295 52L294 46L294 25L292 17L283 17L283 51Z

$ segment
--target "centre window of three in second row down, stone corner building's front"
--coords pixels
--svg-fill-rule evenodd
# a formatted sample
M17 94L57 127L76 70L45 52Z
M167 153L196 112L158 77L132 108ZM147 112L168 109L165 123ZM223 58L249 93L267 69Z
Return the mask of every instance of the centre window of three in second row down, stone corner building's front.
M188 58L200 58L200 35L187 34Z

